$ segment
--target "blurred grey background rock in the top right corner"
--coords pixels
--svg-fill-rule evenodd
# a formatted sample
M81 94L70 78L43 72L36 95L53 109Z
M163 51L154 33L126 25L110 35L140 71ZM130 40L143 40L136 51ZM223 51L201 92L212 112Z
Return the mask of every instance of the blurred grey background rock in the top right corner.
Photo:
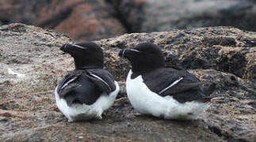
M145 6L146 22L142 25L142 31L218 25L256 31L256 21L252 18L256 16L255 1L162 0L148 2L148 5ZM155 9L153 13L152 9Z

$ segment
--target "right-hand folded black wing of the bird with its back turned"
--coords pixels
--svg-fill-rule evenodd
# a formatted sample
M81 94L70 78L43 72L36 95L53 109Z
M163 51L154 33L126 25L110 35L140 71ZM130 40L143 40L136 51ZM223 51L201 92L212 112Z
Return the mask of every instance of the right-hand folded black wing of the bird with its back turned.
M114 77L105 69L86 69L87 77L101 89L102 92L113 92L116 90Z

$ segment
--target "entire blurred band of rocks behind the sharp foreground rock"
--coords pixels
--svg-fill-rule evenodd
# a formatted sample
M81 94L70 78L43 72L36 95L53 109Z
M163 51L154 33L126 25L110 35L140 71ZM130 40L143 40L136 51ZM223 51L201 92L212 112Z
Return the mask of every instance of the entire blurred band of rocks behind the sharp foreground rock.
M21 22L75 41L208 26L256 31L255 0L1 0L0 25Z

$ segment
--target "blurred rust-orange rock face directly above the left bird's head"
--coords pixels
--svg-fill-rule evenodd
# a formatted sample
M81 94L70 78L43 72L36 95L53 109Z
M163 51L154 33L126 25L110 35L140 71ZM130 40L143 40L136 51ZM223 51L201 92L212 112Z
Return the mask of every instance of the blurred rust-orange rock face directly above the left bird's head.
M72 39L90 40L120 35L125 32L119 21L111 17L104 3L85 3L75 7L71 16L55 27Z

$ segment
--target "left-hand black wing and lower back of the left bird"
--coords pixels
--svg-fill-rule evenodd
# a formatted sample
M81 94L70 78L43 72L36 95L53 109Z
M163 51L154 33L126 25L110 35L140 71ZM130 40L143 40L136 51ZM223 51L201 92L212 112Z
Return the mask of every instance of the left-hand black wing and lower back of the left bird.
M73 103L91 105L102 93L84 70L74 70L63 77L58 84L57 92L60 98L66 99L68 106Z

